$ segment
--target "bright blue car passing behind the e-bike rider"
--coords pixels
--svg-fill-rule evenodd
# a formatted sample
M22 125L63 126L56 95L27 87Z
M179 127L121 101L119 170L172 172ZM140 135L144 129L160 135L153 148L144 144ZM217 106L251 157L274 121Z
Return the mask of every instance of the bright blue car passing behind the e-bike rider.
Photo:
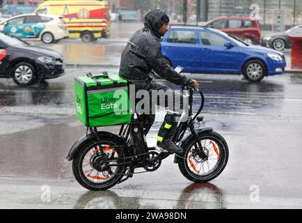
M182 66L184 72L244 74L251 82L282 74L286 66L282 52L202 26L171 26L161 49L170 64Z

